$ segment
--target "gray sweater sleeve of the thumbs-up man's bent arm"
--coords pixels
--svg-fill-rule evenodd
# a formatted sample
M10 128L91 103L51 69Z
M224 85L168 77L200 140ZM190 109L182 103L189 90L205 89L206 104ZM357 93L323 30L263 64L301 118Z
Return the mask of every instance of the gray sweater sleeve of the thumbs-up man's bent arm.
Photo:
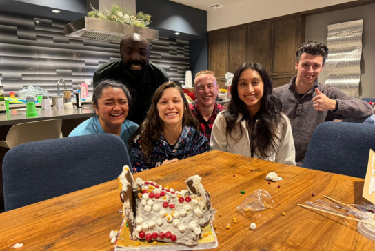
M342 90L338 90L332 86L324 86L323 94L327 95L330 99L338 101L338 109L336 112L330 111L329 114L327 114L327 117L332 116L333 119L357 119L369 117L374 114L369 103L350 97Z

